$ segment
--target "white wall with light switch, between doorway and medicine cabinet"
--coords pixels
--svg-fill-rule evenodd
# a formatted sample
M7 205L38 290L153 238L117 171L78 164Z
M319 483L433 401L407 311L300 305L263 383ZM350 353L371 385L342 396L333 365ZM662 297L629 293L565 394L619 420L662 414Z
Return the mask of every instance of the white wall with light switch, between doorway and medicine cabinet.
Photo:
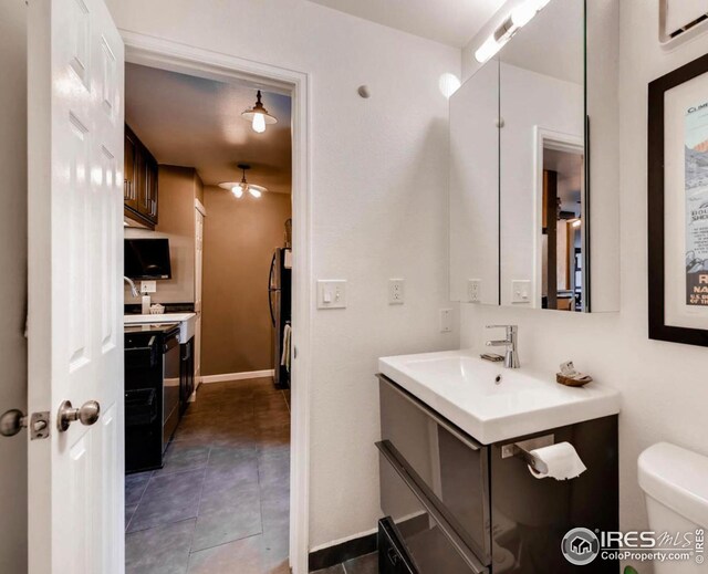
M304 0L108 4L123 29L311 74L312 281L347 279L348 307L313 322L310 542L375 528L376 357L458 345L438 332L450 306L438 79L459 75L459 50ZM406 279L404 305L387 304L388 278Z

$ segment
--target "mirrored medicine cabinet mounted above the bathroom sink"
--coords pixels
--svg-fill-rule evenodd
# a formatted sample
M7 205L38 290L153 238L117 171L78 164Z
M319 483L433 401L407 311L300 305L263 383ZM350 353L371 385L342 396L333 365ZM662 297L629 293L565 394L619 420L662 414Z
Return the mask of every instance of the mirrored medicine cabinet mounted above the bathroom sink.
M616 0L593 10L551 0L450 97L454 301L616 310Z

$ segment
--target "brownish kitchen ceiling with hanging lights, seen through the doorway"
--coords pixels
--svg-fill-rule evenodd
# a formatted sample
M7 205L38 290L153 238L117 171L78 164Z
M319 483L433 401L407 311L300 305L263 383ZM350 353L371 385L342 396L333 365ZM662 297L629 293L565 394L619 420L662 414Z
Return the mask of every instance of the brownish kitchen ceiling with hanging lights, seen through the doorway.
M125 66L125 121L158 164L194 167L205 185L241 179L290 194L292 153L289 96L263 92L278 123L257 134L241 117L256 90L136 64Z

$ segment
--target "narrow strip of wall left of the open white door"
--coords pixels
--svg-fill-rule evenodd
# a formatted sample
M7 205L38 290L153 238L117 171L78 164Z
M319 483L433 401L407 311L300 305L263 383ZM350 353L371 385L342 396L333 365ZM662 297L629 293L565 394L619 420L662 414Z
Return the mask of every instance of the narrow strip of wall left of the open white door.
M0 413L27 409L27 7L0 3ZM27 571L27 432L0 437L0 572Z

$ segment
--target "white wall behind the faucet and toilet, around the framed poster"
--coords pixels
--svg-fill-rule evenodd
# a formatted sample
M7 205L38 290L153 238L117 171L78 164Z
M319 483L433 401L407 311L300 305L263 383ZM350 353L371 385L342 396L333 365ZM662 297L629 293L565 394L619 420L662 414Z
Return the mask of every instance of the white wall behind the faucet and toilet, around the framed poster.
M479 348L485 324L516 323L522 365L551 377L562 361L572 358L581 371L622 390L623 529L646 526L636 477L642 449L668 440L708 455L708 349L647 338L647 83L708 51L706 34L663 51L657 4L658 0L622 0L620 8L621 312L580 315L467 304L461 310L462 347ZM603 156L595 154L592 160L602 163ZM604 233L604 221L594 222L594 233Z

